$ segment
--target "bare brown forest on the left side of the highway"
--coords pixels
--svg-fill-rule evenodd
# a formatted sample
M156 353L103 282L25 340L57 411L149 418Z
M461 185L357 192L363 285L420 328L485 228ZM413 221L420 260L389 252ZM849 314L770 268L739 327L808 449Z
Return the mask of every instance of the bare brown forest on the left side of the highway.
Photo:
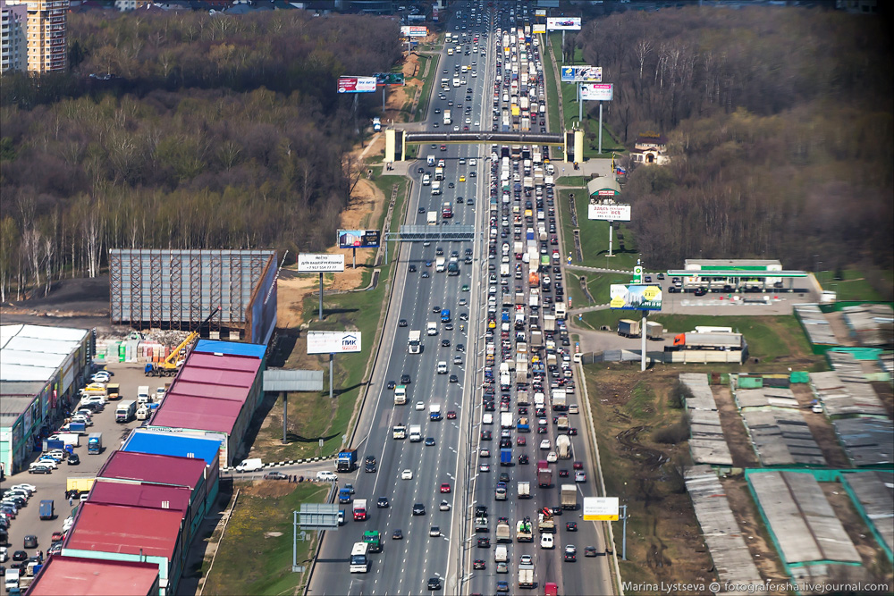
M304 11L69 15L72 71L0 89L0 300L108 248L332 245L394 21ZM90 77L90 75L96 75Z

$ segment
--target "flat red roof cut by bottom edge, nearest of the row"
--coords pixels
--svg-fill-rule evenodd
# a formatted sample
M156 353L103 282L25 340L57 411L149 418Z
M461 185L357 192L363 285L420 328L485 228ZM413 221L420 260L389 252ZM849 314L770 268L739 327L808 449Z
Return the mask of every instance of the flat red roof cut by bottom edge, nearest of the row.
M46 559L28 593L34 596L158 596L158 583L155 563L54 555Z

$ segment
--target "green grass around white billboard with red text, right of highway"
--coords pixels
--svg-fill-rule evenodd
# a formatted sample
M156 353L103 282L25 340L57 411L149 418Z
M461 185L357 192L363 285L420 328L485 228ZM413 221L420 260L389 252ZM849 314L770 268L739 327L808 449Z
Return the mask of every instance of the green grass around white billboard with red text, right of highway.
M559 210L561 212L562 239L564 252L567 255L574 251L574 226L571 224L569 195L574 194L578 211L578 230L580 230L580 249L584 260L573 260L571 264L582 264L588 267L604 267L606 269L633 269L637 264L639 253L636 242L628 228L615 222L615 239L612 245L613 256L609 257L609 222L598 222L586 219L586 187L582 189L562 189L559 191ZM620 236L623 235L623 238ZM622 244L623 241L623 244ZM598 302L598 300L597 300Z

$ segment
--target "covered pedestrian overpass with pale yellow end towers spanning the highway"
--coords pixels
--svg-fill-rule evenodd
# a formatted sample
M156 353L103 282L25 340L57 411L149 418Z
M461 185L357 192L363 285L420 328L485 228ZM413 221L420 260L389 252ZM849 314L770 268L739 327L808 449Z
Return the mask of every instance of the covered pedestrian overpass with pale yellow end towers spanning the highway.
M584 131L568 130L564 133L549 132L408 132L385 130L385 163L403 162L407 159L407 145L423 143L477 144L477 145L551 145L562 147L566 164L584 161Z

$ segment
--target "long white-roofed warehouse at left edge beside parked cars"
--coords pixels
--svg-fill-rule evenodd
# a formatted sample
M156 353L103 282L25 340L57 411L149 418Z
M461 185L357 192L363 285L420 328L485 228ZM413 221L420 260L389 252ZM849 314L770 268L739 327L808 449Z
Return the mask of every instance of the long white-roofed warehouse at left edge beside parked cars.
M0 327L0 466L16 473L77 400L96 351L92 330Z

